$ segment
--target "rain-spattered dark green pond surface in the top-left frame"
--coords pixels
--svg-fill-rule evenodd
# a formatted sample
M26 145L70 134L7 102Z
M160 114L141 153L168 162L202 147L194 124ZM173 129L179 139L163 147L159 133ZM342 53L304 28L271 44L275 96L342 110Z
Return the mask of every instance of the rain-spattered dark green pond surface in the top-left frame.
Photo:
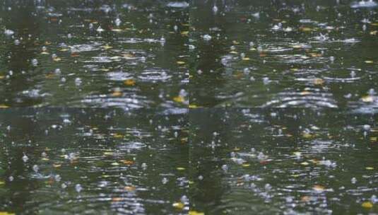
M1 1L0 105L183 107L188 12L170 1Z

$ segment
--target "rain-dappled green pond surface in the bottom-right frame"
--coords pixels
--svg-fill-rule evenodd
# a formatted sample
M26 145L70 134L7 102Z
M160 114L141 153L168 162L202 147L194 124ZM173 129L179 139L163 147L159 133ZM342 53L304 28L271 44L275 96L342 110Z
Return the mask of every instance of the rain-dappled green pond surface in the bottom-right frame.
M377 112L190 112L191 210L377 214Z

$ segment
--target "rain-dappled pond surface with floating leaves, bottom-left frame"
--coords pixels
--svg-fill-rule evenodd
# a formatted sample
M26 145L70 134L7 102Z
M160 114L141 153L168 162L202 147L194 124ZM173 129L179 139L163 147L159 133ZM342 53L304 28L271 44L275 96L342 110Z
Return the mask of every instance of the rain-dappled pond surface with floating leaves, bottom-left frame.
M0 118L0 211L187 214L184 110L3 110Z

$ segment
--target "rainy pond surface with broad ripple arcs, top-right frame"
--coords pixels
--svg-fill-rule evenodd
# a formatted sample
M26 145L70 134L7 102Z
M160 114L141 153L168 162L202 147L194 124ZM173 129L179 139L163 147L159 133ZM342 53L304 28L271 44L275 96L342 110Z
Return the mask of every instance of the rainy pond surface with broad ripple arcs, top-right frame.
M377 107L377 6L194 0L191 105Z

